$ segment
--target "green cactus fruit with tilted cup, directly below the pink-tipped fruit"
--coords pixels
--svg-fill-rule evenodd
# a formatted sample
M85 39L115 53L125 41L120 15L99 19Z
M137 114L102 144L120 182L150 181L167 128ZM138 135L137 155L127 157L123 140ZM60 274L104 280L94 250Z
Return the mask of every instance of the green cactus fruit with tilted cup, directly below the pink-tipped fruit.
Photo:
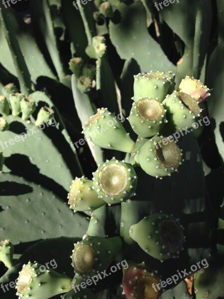
M167 110L168 123L163 127L162 134L192 128L196 126L194 123L201 116L202 109L195 98L182 91L174 91L171 95L167 95L163 104Z

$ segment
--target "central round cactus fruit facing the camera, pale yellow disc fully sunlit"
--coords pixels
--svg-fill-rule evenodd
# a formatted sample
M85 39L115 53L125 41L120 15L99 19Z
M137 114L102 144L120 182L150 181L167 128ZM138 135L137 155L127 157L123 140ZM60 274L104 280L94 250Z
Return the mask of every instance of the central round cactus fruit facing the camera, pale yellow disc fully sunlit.
M126 201L135 195L137 176L133 166L112 158L94 172L94 189L109 204Z

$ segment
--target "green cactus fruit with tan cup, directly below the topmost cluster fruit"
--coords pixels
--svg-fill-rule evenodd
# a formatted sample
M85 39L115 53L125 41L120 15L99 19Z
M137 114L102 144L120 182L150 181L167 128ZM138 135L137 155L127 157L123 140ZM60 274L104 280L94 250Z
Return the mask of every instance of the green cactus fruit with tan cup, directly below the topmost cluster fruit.
M159 134L166 123L166 112L158 99L143 98L132 104L127 119L137 135L147 138Z

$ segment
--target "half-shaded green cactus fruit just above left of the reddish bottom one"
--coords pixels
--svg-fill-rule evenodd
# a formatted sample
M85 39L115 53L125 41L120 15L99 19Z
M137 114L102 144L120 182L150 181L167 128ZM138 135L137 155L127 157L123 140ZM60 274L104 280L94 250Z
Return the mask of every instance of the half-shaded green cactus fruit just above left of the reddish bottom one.
M86 237L75 244L72 251L72 265L82 277L98 277L99 272L106 271L116 254L122 248L120 237ZM98 277L98 281L99 281Z

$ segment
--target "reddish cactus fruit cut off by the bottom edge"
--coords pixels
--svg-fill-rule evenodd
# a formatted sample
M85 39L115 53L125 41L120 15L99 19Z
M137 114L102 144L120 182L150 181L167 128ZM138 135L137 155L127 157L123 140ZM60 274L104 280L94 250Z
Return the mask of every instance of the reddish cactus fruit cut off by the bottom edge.
M127 299L159 299L162 291L157 288L161 282L157 271L151 271L144 263L127 261L127 265L128 268L123 268L122 279L123 292Z

